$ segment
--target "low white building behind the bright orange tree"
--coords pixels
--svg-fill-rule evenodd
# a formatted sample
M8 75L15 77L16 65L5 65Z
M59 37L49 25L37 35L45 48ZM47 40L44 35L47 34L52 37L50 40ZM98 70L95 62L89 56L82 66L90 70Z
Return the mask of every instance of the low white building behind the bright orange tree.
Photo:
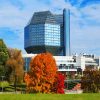
M36 54L23 54L25 60L25 71L29 70L31 58ZM77 69L84 71L86 68L97 69L100 66L100 57L93 55L78 55L78 56L54 56L58 71L61 72L77 72Z

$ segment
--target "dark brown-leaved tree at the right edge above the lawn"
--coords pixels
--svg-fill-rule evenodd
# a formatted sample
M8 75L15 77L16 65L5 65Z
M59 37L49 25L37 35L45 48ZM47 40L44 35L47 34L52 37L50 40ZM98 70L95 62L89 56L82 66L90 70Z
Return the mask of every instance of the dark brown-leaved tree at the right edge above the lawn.
M85 93L96 93L100 91L100 70L88 70L84 71L84 75L81 79L81 87Z

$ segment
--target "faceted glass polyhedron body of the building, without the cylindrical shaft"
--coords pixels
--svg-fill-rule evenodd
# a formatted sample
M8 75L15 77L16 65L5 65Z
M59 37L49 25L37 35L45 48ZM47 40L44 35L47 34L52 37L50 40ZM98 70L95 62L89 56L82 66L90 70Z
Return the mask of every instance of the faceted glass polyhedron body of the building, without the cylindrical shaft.
M24 47L27 53L60 53L60 24L50 11L33 14L24 30Z

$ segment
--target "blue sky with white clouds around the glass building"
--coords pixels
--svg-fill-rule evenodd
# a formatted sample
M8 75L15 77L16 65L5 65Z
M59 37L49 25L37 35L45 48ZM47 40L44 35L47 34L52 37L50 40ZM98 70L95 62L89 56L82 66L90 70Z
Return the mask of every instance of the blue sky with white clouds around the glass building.
M100 55L100 0L0 0L0 38L24 50L24 27L36 11L71 11L71 52Z

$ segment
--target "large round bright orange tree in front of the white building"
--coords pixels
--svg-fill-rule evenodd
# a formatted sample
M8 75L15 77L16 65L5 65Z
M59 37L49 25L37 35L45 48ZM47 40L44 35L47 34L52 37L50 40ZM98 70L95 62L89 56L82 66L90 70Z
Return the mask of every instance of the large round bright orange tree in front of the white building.
M30 71L25 74L28 92L50 93L57 73L56 62L50 53L41 53L30 62Z

